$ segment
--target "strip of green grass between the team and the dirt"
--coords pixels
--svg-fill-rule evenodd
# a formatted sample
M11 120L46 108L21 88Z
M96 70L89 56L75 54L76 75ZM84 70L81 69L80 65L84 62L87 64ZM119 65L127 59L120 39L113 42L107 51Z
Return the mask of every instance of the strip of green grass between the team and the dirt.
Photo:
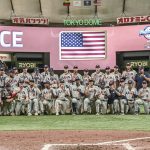
M150 131L150 115L1 116L0 130L141 130Z

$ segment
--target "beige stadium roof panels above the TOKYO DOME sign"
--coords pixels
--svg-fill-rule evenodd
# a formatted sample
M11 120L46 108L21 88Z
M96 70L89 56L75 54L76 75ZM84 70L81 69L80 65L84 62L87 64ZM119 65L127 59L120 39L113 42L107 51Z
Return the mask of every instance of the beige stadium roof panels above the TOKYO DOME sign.
M150 15L150 0L101 0L101 6L74 7L70 0L69 16L72 18L102 19L104 23L115 23L118 17ZM77 0L76 0L77 1ZM64 0L0 0L0 24L11 25L11 17L47 17L50 24L62 24L68 16Z

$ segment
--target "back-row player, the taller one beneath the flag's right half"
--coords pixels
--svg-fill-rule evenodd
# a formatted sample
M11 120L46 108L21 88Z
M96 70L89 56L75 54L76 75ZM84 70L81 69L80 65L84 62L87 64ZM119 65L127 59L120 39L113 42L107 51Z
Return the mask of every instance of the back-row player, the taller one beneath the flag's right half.
M96 65L95 69L96 71L92 73L91 78L94 80L94 85L99 86L99 84L103 81L104 74L101 72L99 65Z

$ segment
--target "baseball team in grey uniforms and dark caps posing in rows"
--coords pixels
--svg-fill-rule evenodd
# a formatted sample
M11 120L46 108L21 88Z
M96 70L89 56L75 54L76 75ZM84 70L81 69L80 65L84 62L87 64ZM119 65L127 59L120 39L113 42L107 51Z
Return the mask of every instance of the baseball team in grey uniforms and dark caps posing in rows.
M70 71L68 65L60 76L48 65L42 73L0 68L0 115L139 114L140 105L149 114L149 83L144 68L137 73L129 63L122 73L118 66L102 72L96 65L91 75L88 69L81 75L78 66Z

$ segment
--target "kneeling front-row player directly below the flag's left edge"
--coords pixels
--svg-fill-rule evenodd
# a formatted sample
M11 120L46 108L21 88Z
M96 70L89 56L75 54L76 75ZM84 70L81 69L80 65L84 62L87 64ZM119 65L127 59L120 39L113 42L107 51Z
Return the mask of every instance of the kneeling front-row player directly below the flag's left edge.
M60 81L59 87L55 92L56 93L53 93L53 95L57 97L55 101L56 115L58 116L60 112L62 115L64 115L69 102L69 100L66 98L66 96L70 96L69 88L64 86L64 81Z

